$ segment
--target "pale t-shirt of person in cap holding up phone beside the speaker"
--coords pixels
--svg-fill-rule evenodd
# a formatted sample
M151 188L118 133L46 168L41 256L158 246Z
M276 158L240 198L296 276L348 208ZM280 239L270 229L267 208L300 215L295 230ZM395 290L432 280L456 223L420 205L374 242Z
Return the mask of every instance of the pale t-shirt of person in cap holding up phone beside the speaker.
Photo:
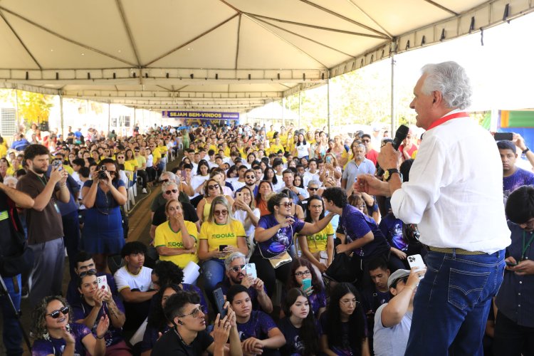
M386 305L387 303L380 305L375 313L375 328L373 329L375 356L404 355L410 328L412 328L412 312L404 314L399 324L385 328L382 325L382 310Z

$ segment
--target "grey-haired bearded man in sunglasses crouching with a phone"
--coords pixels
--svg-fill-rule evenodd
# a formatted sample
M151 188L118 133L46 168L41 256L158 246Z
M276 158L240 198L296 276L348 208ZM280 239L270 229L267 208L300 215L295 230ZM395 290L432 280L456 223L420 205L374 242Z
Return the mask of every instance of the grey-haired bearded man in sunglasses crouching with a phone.
M215 288L221 288L224 295L228 293L231 286L241 284L248 288L248 294L251 295L252 308L254 310L263 310L265 313L272 313L273 302L267 295L267 290L263 286L263 281L260 278L254 279L250 274L245 276L243 270L245 266L245 255L241 252L231 253L230 256L224 260L224 267L226 268L226 277L219 282Z

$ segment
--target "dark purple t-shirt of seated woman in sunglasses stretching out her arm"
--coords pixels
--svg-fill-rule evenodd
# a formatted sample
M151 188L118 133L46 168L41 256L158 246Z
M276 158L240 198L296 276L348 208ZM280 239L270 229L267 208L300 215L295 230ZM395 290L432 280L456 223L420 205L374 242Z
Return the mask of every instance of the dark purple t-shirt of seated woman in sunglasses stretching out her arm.
M283 227L278 229L276 234L268 239L267 241L259 242L258 248L254 253L260 253L258 251L261 249L261 254L265 258L271 258L274 256L287 251L288 248L293 244L293 236L297 234L304 227L304 221L298 219L296 216L292 216L295 219L295 222L290 226ZM258 226L263 229L270 229L273 226L278 225L278 221L273 214L263 215L258 221Z

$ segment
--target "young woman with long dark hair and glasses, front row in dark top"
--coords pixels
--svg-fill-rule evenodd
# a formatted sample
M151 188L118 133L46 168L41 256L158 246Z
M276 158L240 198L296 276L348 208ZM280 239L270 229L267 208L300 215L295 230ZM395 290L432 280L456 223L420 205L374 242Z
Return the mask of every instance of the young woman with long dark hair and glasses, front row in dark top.
M365 314L360 295L352 284L339 283L333 288L320 323L321 350L326 355L370 356Z

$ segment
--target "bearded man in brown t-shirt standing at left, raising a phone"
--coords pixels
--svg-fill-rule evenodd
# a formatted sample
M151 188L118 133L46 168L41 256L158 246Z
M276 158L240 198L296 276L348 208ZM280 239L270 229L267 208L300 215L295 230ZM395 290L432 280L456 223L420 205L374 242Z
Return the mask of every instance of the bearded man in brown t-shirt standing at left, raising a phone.
M28 246L35 257L28 281L32 306L47 295L61 295L65 263L63 222L56 201L67 204L70 199L66 184L68 173L61 167L53 167L47 178L48 154L48 148L43 145L26 147L24 160L28 174L21 177L16 185L17 190L35 201L33 208L26 210ZM43 234L43 231L46 233Z

